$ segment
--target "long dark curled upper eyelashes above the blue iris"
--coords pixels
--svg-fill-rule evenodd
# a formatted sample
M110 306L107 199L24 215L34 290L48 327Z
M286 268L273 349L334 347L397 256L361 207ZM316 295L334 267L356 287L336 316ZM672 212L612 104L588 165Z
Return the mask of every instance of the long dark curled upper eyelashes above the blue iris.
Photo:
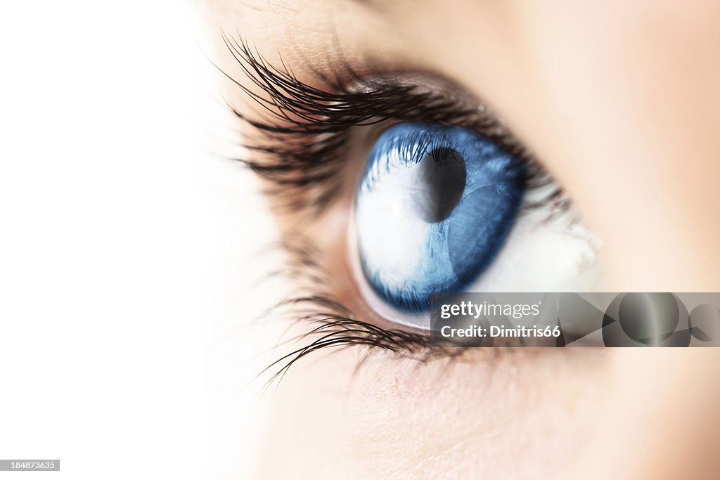
M282 60L282 68L271 65L239 37L222 32L222 40L244 76L261 91L258 94L223 72L262 110L255 118L228 104L238 119L261 134L255 140L246 135L243 147L251 152L251 158L233 160L269 179L271 186L266 193L273 195L281 208L322 213L341 193L341 184L332 180L343 168L339 160L346 152L351 127L387 119L472 127L526 161L528 189L554 186L552 178L521 142L485 110L460 106L448 96L419 85L361 76L347 63L333 72L333 78L310 68L318 81L331 90L325 91L299 81ZM553 212L564 211L569 204L562 189L554 186L542 199L526 207L550 202L554 204Z

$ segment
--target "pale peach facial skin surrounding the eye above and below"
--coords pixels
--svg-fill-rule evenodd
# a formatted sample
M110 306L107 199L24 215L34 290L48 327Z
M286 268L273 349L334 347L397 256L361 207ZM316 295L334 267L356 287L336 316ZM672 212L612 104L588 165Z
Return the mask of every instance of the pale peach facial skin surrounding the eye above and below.
M451 78L568 192L602 241L609 291L720 291L717 1L214 0L209 12L211 32L240 30L269 60L289 45L285 59L327 58L337 41L350 58ZM307 230L344 231L349 205ZM298 222L279 215L281 235ZM345 237L321 236L334 293L372 317ZM257 476L672 479L720 468L713 348L475 351L453 366L374 354L353 375L359 350L298 363L264 397L250 434Z

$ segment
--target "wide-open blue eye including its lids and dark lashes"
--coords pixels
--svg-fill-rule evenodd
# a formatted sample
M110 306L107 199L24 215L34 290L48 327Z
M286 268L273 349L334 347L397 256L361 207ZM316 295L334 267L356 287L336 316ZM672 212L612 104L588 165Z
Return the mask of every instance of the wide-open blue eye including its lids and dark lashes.
M336 345L430 348L415 330L429 330L433 291L602 290L598 243L564 189L462 86L373 63L312 68L310 85L223 39L253 88L233 83L261 107L230 107L248 133L236 159L288 220L297 295L279 307L318 335L295 360Z

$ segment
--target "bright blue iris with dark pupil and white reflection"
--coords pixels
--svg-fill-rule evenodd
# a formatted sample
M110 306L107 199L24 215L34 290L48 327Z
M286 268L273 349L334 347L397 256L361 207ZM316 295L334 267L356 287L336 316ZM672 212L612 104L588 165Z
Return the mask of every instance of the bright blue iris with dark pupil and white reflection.
M513 227L525 163L473 130L408 122L380 135L356 193L360 264L385 302L429 308L464 291Z

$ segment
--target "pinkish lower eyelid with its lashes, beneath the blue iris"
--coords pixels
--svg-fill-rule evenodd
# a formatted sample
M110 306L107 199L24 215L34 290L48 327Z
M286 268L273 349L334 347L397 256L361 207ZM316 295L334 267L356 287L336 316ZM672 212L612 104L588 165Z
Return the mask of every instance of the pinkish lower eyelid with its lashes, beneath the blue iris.
M351 232L348 225L350 209L348 201L341 202L327 216L311 225L304 235L337 232L338 229ZM282 320L292 322L289 325L294 325L293 331L299 338L282 354L291 355L276 358L278 363L269 368L271 382L279 381L287 368L310 353L314 356L346 348L363 349L364 356L360 358L386 351L392 352L392 358L408 358L420 363L430 359L474 363L499 361L508 355L516 358L516 352L525 356L540 354L540 350L527 348L448 349L431 345L427 330L418 329L411 323L401 322L402 325L398 325L397 320L377 314L373 306L367 304L353 276L352 250L348 252L348 242L343 235L317 235L315 240L297 240L304 235L288 235L296 239L296 246L288 249L296 266L293 278L313 280L307 281L297 297L288 299L291 307L282 313ZM307 257L309 252L312 252L312 258ZM372 367L372 363L362 360L360 364L365 368Z

